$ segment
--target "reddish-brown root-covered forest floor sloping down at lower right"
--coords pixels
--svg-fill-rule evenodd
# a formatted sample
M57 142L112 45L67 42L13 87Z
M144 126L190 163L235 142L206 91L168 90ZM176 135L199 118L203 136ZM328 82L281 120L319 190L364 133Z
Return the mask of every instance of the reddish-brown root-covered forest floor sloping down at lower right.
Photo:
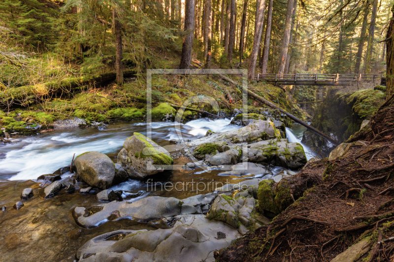
M309 177L305 185L310 179L321 182L309 186L269 226L221 250L217 261L327 262L364 239L354 261L393 262L393 101L380 107L370 126L347 141L350 148L342 157L320 160L298 173Z

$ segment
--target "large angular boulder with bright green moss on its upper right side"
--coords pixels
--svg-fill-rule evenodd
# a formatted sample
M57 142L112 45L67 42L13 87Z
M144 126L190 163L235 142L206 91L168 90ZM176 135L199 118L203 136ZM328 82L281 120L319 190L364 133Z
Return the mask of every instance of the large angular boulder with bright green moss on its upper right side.
M126 139L118 154L118 164L122 165L131 178L139 180L147 175L163 172L165 166L173 163L167 150L140 133L134 133Z

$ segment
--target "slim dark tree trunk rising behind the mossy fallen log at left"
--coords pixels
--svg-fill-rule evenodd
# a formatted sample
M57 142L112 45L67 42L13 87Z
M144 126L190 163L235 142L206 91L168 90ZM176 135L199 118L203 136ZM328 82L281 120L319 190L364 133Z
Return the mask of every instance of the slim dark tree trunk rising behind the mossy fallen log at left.
M113 25L114 25L114 34L115 34L115 49L116 49L116 58L115 58L115 69L116 69L116 84L123 84L123 47L122 47L122 25L119 22L119 16L117 12L117 7L114 6L112 9L113 16Z

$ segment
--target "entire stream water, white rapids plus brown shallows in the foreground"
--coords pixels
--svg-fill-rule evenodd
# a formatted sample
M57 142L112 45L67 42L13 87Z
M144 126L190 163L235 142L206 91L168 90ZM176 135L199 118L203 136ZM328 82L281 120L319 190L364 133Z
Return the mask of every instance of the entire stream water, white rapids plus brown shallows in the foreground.
M60 167L70 164L72 155L86 151L99 151L107 154L114 162L126 138L133 132L146 134L146 123L128 122L110 124L105 129L96 128L58 130L32 137L12 139L11 144L0 146L0 261L73 261L76 250L87 240L99 234L119 229L148 229L149 225L133 225L128 221L104 224L99 228L82 229L75 224L72 210L76 206L102 204L95 199L95 194L68 194L60 191L55 197L44 199L43 185L35 181L39 175L51 174ZM154 122L150 124L152 139L160 146L169 146L170 139L180 139L174 123ZM200 118L180 125L182 139L204 136L208 129L228 131L239 128L231 125L230 119L210 120ZM300 142L296 132L287 130L291 142ZM191 162L174 149L174 164L183 165ZM308 149L305 149L307 151ZM308 155L307 155L308 156ZM283 168L271 167L272 173ZM165 171L150 177L158 183L158 188L148 186L147 181L128 180L113 186L113 190L127 190L136 193L143 190L146 196L176 197L184 199L197 194L213 192L212 181L236 183L251 177L263 175L218 175L219 168L213 170ZM66 173L62 179L66 179ZM268 175L270 176L270 175ZM161 185L166 182L211 182L208 188L192 188L186 191L166 191ZM209 184L208 184L209 185ZM12 208L20 201L24 188L33 188L34 197L24 201L19 211ZM97 192L96 192L97 193ZM132 201L136 201L134 199Z

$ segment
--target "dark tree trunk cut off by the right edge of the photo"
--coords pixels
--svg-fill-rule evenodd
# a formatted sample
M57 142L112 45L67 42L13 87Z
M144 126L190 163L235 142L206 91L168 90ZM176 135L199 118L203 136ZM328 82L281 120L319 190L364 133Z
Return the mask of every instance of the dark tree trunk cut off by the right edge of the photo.
M389 99L394 94L394 11L392 20L390 20L389 29L387 29L386 39L390 38L387 41L386 48L386 63L387 63L387 72L386 72L386 98Z

